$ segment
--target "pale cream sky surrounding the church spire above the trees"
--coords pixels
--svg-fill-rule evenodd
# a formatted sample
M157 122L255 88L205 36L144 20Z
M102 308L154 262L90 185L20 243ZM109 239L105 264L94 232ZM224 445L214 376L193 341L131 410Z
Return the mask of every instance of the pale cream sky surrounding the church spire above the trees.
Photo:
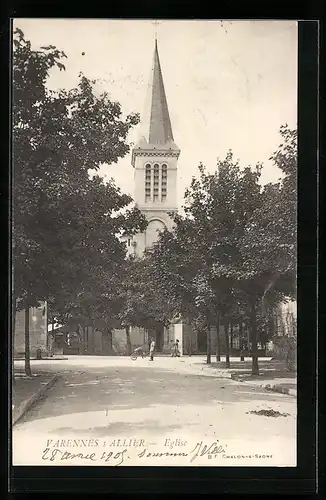
M181 149L178 205L202 162L216 170L232 149L243 166L263 163L261 183L281 176L269 161L280 126L297 124L297 22L213 20L15 19L33 49L55 45L66 71L48 86L73 88L83 72L125 114L142 114L155 31L172 130ZM83 55L84 53L84 55ZM136 142L139 126L128 138ZM131 154L98 172L133 195Z

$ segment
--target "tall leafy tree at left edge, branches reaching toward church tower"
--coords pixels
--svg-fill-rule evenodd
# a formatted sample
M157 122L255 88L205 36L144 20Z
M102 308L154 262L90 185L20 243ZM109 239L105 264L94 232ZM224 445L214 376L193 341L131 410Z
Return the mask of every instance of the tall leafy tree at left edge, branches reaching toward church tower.
M49 91L49 72L64 70L63 58L53 46L32 50L15 31L13 302L25 309L47 298L63 304L67 295L79 306L123 261L118 235L146 225L137 208L122 212L129 196L89 175L129 151L139 117L123 118L119 103L96 97L83 75L75 89Z

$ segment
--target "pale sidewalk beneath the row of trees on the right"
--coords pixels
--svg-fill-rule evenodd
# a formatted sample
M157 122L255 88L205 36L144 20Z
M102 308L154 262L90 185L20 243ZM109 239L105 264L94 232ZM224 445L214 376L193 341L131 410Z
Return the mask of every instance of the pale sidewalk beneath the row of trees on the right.
M269 391L291 396L297 395L297 375L287 371L283 361L259 358L259 375L252 375L251 358L239 361L239 358L231 357L231 368L225 368L225 357L223 356L219 363L213 361L212 357L210 365L206 363L205 356L183 356L180 359L198 374L205 373L219 378L231 378L246 385L261 387Z

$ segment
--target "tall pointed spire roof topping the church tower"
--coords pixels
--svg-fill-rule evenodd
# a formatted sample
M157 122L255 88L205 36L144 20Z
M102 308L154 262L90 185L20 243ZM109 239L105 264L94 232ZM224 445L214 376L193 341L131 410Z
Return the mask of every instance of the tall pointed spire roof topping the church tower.
M140 149L179 149L173 139L156 40L145 112L141 117L140 139L135 147Z

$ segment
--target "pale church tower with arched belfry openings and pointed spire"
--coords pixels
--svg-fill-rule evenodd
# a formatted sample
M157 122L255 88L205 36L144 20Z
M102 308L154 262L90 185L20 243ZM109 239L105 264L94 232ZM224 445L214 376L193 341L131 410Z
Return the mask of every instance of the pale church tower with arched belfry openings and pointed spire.
M134 199L146 216L148 227L144 233L133 237L133 250L128 248L129 253L133 251L138 256L157 240L159 231L171 229L173 221L169 212L178 209L177 161L180 149L173 138L157 40L140 130L131 163L134 167Z

